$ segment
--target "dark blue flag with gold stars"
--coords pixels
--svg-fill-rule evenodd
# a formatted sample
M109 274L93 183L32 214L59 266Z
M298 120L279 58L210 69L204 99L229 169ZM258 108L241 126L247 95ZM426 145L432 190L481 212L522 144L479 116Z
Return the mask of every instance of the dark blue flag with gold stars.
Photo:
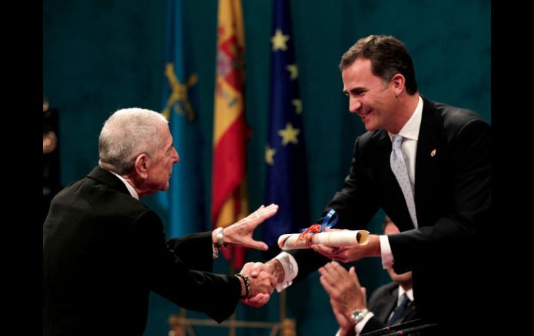
M277 246L278 237L309 226L306 154L302 101L291 31L289 1L275 0L271 42L270 122L265 150L266 204L278 213L262 225L264 242Z

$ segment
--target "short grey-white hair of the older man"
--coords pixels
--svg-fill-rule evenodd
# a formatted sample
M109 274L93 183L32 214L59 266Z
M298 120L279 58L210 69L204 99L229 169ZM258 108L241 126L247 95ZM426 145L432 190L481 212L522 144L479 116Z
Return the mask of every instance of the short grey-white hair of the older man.
M99 166L123 175L132 170L141 153L149 157L163 145L162 125L167 119L150 109L119 109L105 121L98 138Z

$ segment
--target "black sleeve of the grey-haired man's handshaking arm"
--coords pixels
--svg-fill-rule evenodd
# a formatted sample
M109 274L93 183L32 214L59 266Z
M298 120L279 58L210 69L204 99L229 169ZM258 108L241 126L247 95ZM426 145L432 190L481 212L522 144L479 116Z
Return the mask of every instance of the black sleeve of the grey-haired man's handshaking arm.
M188 241L176 242L177 256L165 242L160 218L153 211L142 213L132 224L131 249L135 260L140 260L138 276L146 280L151 290L188 310L205 312L218 322L234 312L241 295L241 282L235 276L225 276L192 270L190 265L207 263L212 254L200 251L203 246L192 247L180 258ZM209 241L196 237L200 242ZM193 240L195 240L193 238ZM191 247L191 246L189 246ZM200 251L200 254L196 254Z

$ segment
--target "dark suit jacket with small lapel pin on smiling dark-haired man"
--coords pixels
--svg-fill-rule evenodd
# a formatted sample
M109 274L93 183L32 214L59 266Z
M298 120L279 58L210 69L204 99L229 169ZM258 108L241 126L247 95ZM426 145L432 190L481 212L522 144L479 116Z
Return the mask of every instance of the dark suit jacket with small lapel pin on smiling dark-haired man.
M451 314L473 317L485 306L480 284L490 278L485 253L494 249L488 239L491 127L467 109L423 100L415 159L419 229L391 171L385 130L356 139L350 173L325 211L336 210L336 228L364 229L383 208L402 231L389 236L393 268L398 274L413 270L418 314L447 324ZM329 261L311 250L292 253L299 265L295 281Z

